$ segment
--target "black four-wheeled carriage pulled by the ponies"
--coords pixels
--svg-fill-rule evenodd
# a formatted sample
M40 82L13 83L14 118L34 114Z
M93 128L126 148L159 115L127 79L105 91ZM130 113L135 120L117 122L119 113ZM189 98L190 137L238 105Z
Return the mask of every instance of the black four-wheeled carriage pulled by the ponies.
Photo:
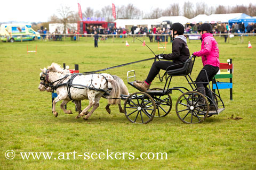
M135 71L128 71L127 83L139 90L139 92L134 92L129 96L121 96L122 99L125 99L124 111L126 118L132 123L145 124L152 121L154 117L166 116L172 109L172 98L170 94L172 94L173 90L178 90L182 93L175 104L175 112L183 123L201 123L206 117L221 113L225 109L225 106L220 97L218 86L218 94L211 91L211 97L202 95L196 90L196 82L190 77L195 58L196 57L193 55L190 56L185 63L181 63L183 64L183 67L179 69L170 70L172 66L168 67L162 80L159 78L161 81L165 79L164 88L154 88L146 92L142 92L139 88L133 85L136 81ZM170 88L172 78L178 76L186 78L191 90L188 90L186 87ZM130 81L131 79L133 79L133 81ZM216 81L214 82L216 83ZM209 80L205 83L207 83L207 86L211 89ZM201 100L201 102L198 102L199 100ZM202 102L202 100L204 102ZM211 111L209 107L210 103L213 105L211 107L214 108L211 109Z

